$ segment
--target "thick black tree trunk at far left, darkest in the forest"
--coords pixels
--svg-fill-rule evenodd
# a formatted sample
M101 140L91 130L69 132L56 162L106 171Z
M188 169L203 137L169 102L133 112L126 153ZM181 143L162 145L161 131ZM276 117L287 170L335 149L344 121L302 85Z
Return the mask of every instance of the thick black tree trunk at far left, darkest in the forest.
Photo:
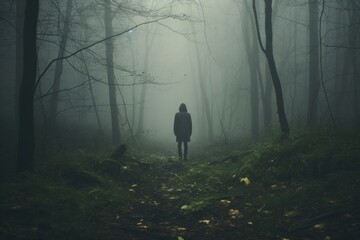
M27 1L23 31L23 77L19 93L19 143L17 170L32 170L34 165L34 92L36 80L36 28L39 0Z

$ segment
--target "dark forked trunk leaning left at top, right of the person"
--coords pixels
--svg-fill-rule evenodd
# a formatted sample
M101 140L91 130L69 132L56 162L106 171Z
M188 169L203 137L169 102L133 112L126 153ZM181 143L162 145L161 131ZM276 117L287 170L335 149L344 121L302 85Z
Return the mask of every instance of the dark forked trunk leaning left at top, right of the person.
M256 0L253 0L253 10L255 16L256 29L258 33L258 40L262 51L265 53L266 59L268 61L271 77L273 80L273 85L276 95L276 106L278 110L280 128L282 134L286 137L289 135L290 129L289 124L286 119L285 108L284 108L284 98L282 94L282 88L280 83L279 74L277 72L274 54L273 54L273 32L272 32L272 0L264 0L265 2L265 36L266 36L266 46L264 48L261 38L260 30L256 13Z

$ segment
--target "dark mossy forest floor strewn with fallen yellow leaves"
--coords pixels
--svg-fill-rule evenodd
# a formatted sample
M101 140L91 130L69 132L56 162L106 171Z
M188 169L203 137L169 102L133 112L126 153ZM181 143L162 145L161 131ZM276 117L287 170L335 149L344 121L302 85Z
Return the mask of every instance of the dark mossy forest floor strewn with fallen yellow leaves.
M62 151L3 180L0 238L359 239L357 137L159 151Z

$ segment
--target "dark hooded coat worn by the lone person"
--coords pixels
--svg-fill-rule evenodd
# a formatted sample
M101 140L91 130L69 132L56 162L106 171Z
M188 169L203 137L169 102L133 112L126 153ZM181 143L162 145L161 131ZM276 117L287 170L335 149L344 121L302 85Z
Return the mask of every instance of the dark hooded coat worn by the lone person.
M191 115L187 112L185 104L181 104L180 112L175 114L174 134L177 142L190 142L192 133Z

